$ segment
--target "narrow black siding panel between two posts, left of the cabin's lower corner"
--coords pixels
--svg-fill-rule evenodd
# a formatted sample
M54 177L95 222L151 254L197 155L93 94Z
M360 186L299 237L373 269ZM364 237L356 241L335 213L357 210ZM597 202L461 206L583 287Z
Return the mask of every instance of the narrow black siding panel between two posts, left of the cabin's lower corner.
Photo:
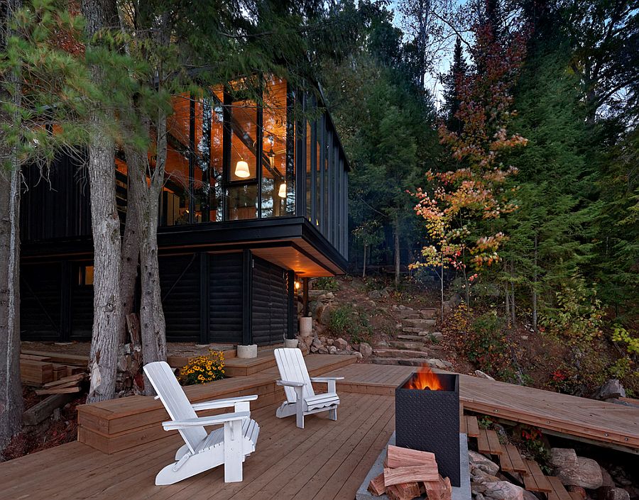
M209 255L209 342L241 343L242 254Z

